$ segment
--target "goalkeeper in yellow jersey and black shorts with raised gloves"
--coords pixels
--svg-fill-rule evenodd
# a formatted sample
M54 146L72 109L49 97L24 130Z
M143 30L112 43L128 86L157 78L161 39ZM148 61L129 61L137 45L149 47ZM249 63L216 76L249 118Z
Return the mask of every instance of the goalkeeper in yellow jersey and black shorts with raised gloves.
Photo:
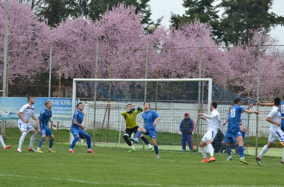
M128 139L129 136L134 132L136 133L139 126L136 122L136 115L140 112L144 111L143 108L138 107L137 109L132 108L132 104L127 105L127 111L121 112L121 115L124 116L125 122L126 122L126 130L123 134L123 139L126 141L127 145L130 146L130 150L128 152L134 152L136 151L134 146L132 145L131 141ZM149 146L151 151L154 151L154 148L152 148L149 141L141 134L140 138L145 142L146 145Z

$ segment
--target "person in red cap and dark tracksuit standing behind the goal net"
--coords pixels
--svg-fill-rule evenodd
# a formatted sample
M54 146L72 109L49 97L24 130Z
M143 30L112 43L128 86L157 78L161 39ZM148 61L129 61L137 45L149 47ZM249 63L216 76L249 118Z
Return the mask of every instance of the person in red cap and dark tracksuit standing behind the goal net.
M194 121L190 119L188 112L184 113L184 119L180 123L181 145L185 151L186 142L190 150L193 150L192 131L194 130Z

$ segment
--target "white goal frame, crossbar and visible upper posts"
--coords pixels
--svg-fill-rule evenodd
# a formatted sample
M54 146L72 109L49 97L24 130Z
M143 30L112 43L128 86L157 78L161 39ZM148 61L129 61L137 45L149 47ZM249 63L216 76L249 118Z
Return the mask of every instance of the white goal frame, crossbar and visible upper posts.
M210 114L210 104L212 102L212 78L192 78L192 79L73 79L73 93L72 93L72 114L75 113L76 107L76 82L208 82L208 105L207 114ZM201 84L199 84L200 92ZM199 94L200 95L200 94Z

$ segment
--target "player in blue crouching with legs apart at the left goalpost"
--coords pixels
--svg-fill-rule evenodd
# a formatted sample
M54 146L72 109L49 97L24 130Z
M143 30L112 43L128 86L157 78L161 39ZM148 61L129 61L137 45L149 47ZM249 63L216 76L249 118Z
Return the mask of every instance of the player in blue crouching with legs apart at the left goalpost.
M79 140L79 138L81 139L87 139L87 146L88 146L88 153L94 153L93 150L91 150L91 136L85 132L85 126L82 125L83 123L83 119L84 119L84 106L83 103L78 103L77 104L77 109L78 111L74 113L73 115L73 119L72 119L72 125L70 128L71 133L74 136L74 140L71 143L71 147L69 149L68 152L74 153L74 146L76 144L76 142Z

